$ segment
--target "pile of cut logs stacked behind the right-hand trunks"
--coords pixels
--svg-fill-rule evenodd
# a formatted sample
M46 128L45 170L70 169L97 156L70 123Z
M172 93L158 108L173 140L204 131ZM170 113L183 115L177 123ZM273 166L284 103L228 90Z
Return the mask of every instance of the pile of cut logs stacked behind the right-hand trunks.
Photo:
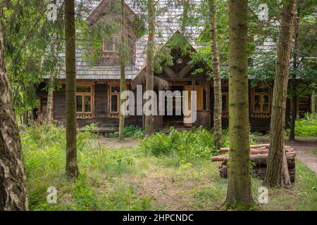
M264 179L266 175L266 164L268 160L268 150L270 144L262 144L250 146L250 161L252 162L252 173L259 178ZM226 155L218 155L211 158L211 162L222 162L219 166L219 174L223 178L228 178L228 161L229 161L229 148L221 148L220 153L227 153ZM295 157L296 153L290 146L285 146L287 167L290 173L290 180L292 183L295 181Z

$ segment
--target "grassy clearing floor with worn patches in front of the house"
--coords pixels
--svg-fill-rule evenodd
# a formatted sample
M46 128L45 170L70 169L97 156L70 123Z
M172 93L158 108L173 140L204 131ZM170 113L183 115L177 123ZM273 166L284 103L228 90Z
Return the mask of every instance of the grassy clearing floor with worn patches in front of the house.
M220 178L219 163L209 157L186 160L173 153L178 148L159 155L142 147L111 149L89 133L78 134L80 176L67 179L64 136L65 130L54 126L33 126L22 134L30 210L219 210L225 200L228 180ZM262 182L251 182L257 200ZM292 191L270 190L269 203L260 210L317 210L316 182L316 174L297 161ZM58 190L56 205L46 203L49 186Z

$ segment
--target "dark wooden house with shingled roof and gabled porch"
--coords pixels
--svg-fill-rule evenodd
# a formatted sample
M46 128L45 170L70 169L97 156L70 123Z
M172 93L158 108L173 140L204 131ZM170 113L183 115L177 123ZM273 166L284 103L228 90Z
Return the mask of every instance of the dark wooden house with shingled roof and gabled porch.
M110 7L110 0L96 1L92 13L87 20L89 23L95 23L97 20L104 19L105 8ZM160 2L160 1L159 1ZM162 2L161 4L164 4ZM127 11L130 16L137 14L137 10L133 9L130 1L126 1ZM168 15L171 17L179 14L178 8L170 8ZM161 34L157 37L159 44L165 44L173 38L175 33L180 29L179 25L175 25L175 21L167 22L168 16L162 15L161 23L158 26ZM172 23L172 24L170 24ZM136 91L136 87L142 84L142 73L146 69L145 47L147 37L137 37L136 34L129 29L128 37L130 39L130 64L125 68L125 78L127 89ZM189 40L192 51L196 51L196 46ZM118 61L118 53L116 46L109 42L104 42L101 51L100 60L95 65L90 65L83 57L85 49L77 46L76 49L76 68L77 68L77 124L83 127L89 124L97 124L99 127L115 129L118 127L119 100L120 100L120 66ZM185 124L184 115L158 115L155 117L154 126L156 130L166 127L199 127L203 126L208 129L213 127L213 82L207 77L206 71L197 75L192 75L196 69L188 64L191 60L189 53L182 54L178 49L173 49L172 56L174 58L173 65L162 65L163 70L156 77L164 79L168 82L168 90L170 91L197 91L197 120L194 124ZM208 68L206 68L208 70ZM65 73L61 72L58 79L61 82L61 89L54 91L53 112L51 117L57 123L63 123L66 120L66 85ZM39 86L39 90L43 90L44 83ZM259 84L259 86L251 86L249 84L249 121L251 129L257 131L268 131L271 119L271 100L272 100L271 84ZM159 89L156 89L159 91ZM228 127L228 80L222 81L223 92L223 128ZM38 91L39 108L37 111L38 120L43 120L46 116L47 92ZM135 105L136 106L136 105ZM287 101L287 117L290 115L290 101ZM310 97L299 98L299 115L310 111ZM144 116L130 115L125 119L125 125L135 125L142 127L144 124Z

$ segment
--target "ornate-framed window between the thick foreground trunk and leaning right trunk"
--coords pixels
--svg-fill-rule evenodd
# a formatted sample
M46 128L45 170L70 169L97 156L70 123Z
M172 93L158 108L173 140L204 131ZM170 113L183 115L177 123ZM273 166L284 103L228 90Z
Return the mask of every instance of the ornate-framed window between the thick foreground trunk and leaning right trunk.
M271 99L268 88L254 88L253 94L253 112L254 113L270 113Z

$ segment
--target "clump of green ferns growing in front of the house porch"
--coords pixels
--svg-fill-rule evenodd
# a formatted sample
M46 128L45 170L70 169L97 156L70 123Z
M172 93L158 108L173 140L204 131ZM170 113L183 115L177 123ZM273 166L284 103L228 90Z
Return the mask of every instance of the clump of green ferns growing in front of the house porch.
M170 129L169 134L153 134L141 141L141 148L147 155L177 155L189 162L194 158L209 158L217 155L213 148L213 134L206 129L196 128L190 131Z

